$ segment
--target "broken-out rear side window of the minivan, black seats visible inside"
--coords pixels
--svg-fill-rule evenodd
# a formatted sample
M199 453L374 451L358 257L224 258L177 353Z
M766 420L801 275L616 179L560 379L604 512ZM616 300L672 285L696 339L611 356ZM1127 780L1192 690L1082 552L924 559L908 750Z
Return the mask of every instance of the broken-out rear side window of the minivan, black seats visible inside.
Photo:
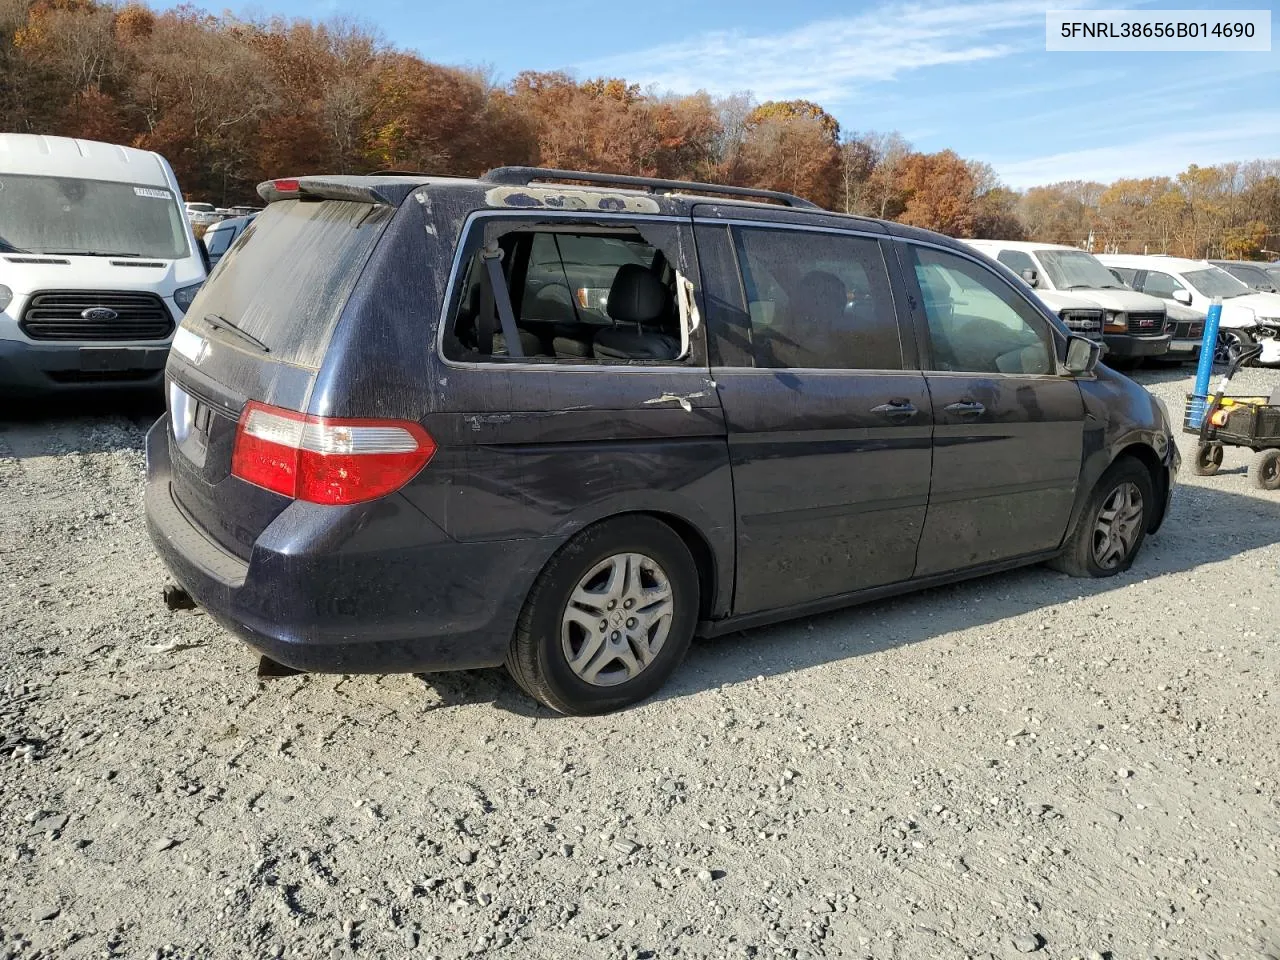
M690 360L696 323L692 285L678 273L677 228L484 219L463 243L444 337L449 360ZM490 260L499 265L498 283ZM515 349L503 317L508 303Z

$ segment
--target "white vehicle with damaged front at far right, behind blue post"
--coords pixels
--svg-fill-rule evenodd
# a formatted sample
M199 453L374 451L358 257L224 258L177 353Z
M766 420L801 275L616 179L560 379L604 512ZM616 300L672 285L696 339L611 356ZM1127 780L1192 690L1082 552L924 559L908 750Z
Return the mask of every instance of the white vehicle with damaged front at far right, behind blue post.
M1261 343L1260 364L1280 364L1280 294L1258 293L1247 283L1206 260L1115 253L1098 257L1134 289L1208 312L1213 297L1222 300L1215 357L1226 361L1234 343Z

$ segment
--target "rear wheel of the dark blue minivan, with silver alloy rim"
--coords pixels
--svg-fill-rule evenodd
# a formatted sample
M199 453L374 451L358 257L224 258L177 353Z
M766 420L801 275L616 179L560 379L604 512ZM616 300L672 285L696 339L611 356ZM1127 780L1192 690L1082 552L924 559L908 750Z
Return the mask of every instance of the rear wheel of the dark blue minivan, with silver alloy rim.
M698 567L654 517L607 520L570 540L538 576L507 669L567 714L607 713L652 696L698 625Z

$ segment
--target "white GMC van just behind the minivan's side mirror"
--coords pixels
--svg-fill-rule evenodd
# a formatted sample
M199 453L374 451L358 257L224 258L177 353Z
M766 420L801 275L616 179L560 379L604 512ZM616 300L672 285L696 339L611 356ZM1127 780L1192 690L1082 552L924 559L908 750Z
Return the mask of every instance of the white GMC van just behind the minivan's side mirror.
M965 243L998 260L1027 280L1041 297L1047 292L1069 293L1087 297L1102 307L1107 362L1116 357L1165 357L1172 348L1165 302L1129 289L1083 250L1061 243L1021 241L975 239ZM1196 346L1178 344L1188 351Z

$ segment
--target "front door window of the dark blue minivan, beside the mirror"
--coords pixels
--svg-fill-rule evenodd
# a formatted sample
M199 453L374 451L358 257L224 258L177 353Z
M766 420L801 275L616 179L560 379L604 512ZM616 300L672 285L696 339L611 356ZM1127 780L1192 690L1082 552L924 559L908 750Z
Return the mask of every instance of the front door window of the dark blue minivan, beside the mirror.
M1051 374L1046 321L991 270L932 247L908 246L929 324L933 370Z

